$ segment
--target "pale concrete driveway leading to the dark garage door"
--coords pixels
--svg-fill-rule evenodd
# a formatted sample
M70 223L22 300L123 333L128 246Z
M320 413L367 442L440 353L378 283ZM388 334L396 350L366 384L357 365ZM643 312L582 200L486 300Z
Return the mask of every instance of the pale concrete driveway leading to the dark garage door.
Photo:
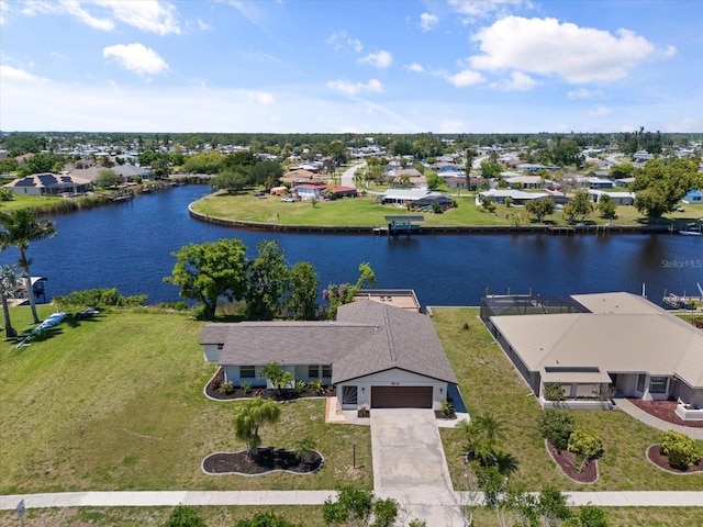
M405 519L462 526L435 414L431 410L371 410L373 492L397 500Z

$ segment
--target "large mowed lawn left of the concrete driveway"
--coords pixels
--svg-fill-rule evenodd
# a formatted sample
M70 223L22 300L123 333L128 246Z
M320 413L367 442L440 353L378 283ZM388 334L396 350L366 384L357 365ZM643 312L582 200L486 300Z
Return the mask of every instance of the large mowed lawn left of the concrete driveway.
M51 307L42 306L41 316ZM29 307L11 310L22 330ZM214 372L198 344L202 322L152 310L69 321L43 340L0 354L0 493L87 490L371 487L368 427L326 425L324 401L284 405L264 445L292 448L311 436L325 457L312 475L205 475L209 453L235 451L237 402L208 400ZM353 468L353 445L357 466Z

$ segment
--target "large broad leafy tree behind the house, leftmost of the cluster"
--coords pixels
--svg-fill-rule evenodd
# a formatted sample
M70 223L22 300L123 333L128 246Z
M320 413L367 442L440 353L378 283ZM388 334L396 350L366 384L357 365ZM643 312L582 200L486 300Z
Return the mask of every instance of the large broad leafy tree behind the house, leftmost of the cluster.
M177 261L165 282L180 285L180 296L202 303L203 316L214 319L217 299L242 300L246 292L246 247L238 238L183 246L171 253Z

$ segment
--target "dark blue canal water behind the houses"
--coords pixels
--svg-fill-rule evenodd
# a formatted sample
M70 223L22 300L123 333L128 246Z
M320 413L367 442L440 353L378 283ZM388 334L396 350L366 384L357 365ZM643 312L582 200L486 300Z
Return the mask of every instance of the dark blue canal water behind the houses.
M279 234L239 231L193 220L188 204L209 192L186 186L145 194L129 203L52 217L57 236L34 242L32 274L48 279L47 295L93 288L148 294L147 303L179 300L163 281L183 245L242 238L278 239L289 265L310 261L328 283L354 282L368 261L379 288L414 289L423 305L478 305L490 293L568 295L628 291L656 303L665 293L698 294L703 284L703 239L679 235L369 235ZM19 253L0 253L13 264Z

